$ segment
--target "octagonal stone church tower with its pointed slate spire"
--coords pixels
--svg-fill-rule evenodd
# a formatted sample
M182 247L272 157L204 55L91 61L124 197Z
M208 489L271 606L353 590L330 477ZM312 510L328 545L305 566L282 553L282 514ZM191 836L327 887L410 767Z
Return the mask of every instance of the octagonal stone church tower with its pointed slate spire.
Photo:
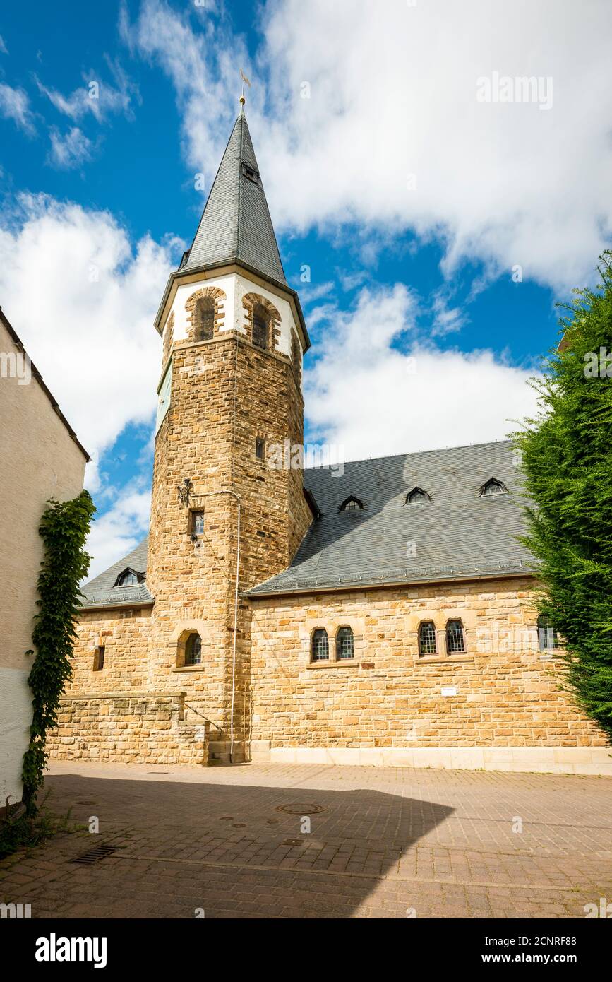
M184 692L213 758L248 755L244 589L283 570L309 523L299 455L309 347L243 109L156 318L163 339L147 585L148 684ZM271 466L275 463L274 466Z

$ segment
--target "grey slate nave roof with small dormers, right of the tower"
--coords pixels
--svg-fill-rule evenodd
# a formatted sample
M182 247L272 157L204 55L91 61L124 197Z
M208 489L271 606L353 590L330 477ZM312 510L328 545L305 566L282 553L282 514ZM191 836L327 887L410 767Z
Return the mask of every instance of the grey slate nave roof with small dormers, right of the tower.
M491 477L509 493L481 497ZM515 538L524 532L520 481L506 440L350 462L341 476L305 470L322 518L291 566L247 595L530 572L533 558ZM406 504L414 487L431 502ZM363 502L362 512L339 512L350 496Z

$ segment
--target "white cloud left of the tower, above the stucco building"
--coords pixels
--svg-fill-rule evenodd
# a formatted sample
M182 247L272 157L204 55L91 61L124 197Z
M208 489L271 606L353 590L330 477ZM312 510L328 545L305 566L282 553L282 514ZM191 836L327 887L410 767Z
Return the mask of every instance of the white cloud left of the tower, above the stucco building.
M153 320L171 247L148 236L132 245L108 212L45 196L20 204L0 225L2 307L79 440L100 454L128 423L152 421Z

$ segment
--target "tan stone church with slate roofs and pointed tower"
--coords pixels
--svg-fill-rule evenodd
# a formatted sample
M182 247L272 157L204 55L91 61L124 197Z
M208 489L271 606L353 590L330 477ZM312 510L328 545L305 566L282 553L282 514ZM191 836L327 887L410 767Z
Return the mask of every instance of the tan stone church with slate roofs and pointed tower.
M537 624L510 442L279 463L310 341L242 107L155 328L150 533L84 587L53 756L610 767Z

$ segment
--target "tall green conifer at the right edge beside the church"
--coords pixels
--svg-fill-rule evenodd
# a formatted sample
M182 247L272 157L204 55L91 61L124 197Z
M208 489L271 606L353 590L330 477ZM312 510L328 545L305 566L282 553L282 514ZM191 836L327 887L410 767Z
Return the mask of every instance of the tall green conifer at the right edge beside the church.
M522 453L525 544L536 557L540 615L579 704L612 736L612 252L601 283L574 291L564 337L533 384L535 419L513 434Z

